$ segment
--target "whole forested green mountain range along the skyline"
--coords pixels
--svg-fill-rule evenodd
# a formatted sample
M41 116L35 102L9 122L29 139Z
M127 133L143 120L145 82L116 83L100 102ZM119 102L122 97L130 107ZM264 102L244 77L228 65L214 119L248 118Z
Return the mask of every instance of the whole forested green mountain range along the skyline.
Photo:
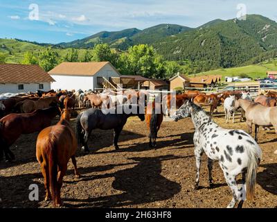
M144 30L102 31L52 46L91 49L98 43L121 51L135 44L150 44L166 60L190 60L201 70L236 67L277 57L277 23L262 15L247 15L246 20L215 19L197 28L159 24Z

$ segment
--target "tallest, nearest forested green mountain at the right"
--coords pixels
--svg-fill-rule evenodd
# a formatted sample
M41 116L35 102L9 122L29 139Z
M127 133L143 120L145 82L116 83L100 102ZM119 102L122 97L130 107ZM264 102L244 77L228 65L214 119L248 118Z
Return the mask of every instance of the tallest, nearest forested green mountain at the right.
M154 47L167 60L201 61L202 70L208 70L242 65L276 49L276 41L276 22L260 15L248 15L246 21L217 21L167 37Z

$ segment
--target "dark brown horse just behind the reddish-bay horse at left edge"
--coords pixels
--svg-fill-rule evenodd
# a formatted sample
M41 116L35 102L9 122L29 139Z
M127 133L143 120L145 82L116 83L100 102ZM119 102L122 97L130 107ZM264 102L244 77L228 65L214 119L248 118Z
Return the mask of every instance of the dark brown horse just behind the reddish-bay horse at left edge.
M38 109L48 108L51 104L59 104L56 96L40 98L37 101L26 99L16 104L20 106L21 113L30 113Z

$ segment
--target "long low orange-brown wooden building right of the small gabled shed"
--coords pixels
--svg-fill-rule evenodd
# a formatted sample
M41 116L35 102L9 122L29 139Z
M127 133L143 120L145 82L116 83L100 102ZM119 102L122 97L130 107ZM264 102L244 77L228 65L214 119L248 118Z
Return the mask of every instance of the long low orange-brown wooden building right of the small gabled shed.
M190 78L190 87L206 88L213 87L221 82L222 76L196 76Z

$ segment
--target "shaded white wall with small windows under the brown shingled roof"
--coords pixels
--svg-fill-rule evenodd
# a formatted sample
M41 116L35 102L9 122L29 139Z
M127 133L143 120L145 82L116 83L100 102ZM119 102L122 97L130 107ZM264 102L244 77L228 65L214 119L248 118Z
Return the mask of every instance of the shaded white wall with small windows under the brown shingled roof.
M19 90L18 85L24 85L24 89ZM39 89L39 83L7 83L0 84L0 94L3 93L20 93L20 92L37 92L37 90L49 91L51 89L50 83L40 83L44 85L44 89Z

